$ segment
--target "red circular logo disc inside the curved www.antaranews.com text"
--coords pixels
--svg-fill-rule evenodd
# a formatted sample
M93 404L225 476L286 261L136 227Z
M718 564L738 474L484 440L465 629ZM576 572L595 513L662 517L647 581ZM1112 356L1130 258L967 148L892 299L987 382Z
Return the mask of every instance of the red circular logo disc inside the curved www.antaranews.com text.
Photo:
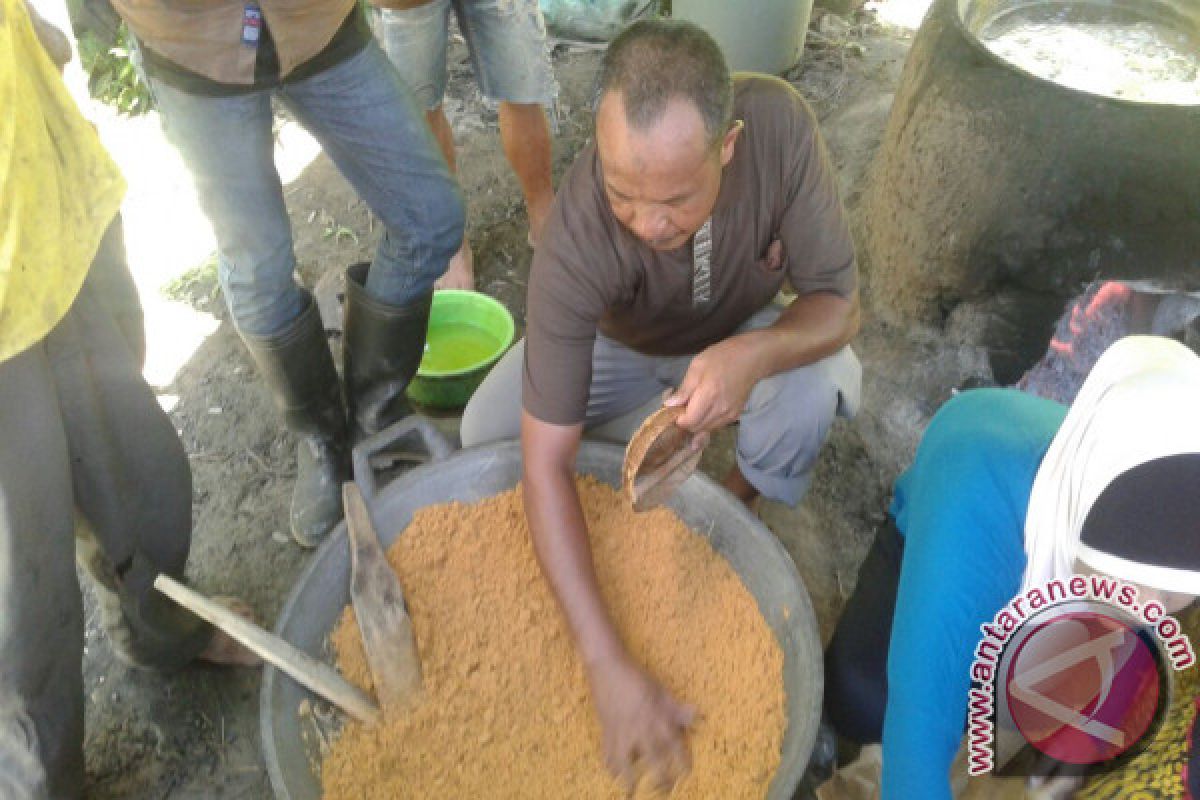
M1004 687L1026 741L1066 764L1099 764L1146 735L1159 708L1159 666L1129 625L1073 612L1020 643Z

